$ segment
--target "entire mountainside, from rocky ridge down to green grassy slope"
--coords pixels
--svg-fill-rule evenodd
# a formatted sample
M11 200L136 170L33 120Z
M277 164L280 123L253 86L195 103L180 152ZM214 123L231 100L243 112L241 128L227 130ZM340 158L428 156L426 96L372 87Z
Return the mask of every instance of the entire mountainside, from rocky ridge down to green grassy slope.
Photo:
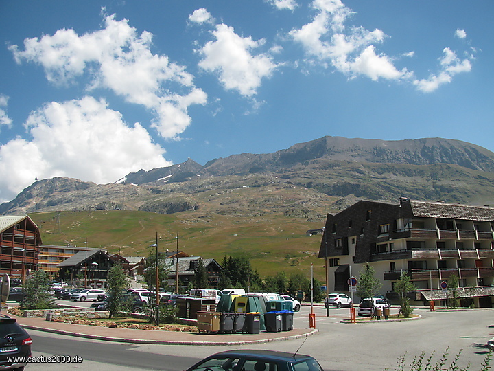
M112 184L36 181L2 214L30 214L43 243L147 255L156 231L163 248L218 260L245 255L261 274L323 274L316 258L328 212L358 199L411 199L494 205L494 153L450 139L405 141L323 137L270 154L239 154L204 166L192 159L140 170ZM60 218L55 218L61 212ZM60 220L60 225L56 221Z

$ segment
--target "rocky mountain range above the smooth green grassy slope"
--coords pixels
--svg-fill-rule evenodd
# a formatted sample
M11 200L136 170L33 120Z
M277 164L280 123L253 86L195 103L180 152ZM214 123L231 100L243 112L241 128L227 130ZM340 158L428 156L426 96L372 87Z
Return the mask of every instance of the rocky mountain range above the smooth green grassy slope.
M0 214L68 210L283 212L324 220L357 199L410 199L494 205L494 153L453 139L399 141L322 137L268 154L193 159L115 183L71 178L34 182ZM290 196L287 196L290 195Z

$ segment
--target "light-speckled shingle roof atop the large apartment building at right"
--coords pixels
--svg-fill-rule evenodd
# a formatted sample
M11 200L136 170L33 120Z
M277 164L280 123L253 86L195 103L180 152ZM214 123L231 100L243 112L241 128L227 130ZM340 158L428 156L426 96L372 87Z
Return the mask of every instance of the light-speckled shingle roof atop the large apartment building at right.
M494 221L494 207L457 205L444 202L410 200L413 216L460 219L464 221Z

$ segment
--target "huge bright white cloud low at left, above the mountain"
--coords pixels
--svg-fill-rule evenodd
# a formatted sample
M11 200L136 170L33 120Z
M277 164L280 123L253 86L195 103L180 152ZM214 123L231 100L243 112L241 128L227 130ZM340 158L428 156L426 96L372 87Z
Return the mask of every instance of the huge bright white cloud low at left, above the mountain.
M18 137L0 146L0 174L10 175L0 177L0 201L10 201L36 177L109 183L141 168L171 165L143 126L127 126L104 100L51 102L32 112L25 128L31 142Z

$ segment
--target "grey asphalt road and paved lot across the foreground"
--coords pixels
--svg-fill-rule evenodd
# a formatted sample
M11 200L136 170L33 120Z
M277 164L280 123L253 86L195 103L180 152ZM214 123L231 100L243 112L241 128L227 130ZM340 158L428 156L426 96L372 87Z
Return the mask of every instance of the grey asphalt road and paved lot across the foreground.
M309 306L295 314L297 328L309 327ZM394 313L396 309L392 310ZM78 339L62 335L30 331L33 337L33 355L78 355L82 363L36 364L26 370L185 370L198 359L226 349L270 349L309 354L325 370L384 370L397 368L400 356L406 356L406 365L412 358L435 352L434 361L449 347L449 362L462 350L458 366L480 370L488 353L486 342L494 337L494 310L475 309L458 312L430 312L416 309L422 319L406 322L342 324L349 317L349 309L331 309L326 317L325 308L314 307L316 328L319 333L306 339L276 341L268 344L243 346L163 346L122 344L107 341Z

